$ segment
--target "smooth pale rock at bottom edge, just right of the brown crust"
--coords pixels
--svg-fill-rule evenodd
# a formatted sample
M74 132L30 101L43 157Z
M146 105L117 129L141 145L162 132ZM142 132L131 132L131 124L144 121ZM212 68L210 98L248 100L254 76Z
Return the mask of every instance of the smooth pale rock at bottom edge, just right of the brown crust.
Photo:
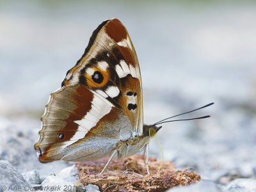
M170 192L198 192L198 191L207 191L207 192L220 192L221 189L217 184L211 181L201 180L195 184L189 186L179 186L176 188L169 189Z

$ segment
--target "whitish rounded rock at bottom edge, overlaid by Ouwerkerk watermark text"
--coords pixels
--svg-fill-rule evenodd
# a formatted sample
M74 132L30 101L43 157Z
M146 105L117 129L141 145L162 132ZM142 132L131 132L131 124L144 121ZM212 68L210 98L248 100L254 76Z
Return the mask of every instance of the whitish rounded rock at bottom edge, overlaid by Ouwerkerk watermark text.
M44 191L65 191L75 192L76 187L72 182L61 179L60 177L49 175L42 182L42 189Z

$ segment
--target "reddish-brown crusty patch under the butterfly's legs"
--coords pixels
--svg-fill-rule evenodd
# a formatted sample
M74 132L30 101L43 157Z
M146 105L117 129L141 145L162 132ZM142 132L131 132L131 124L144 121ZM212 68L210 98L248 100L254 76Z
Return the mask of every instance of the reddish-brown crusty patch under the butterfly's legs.
M173 163L164 161L159 174L161 159L149 157L148 166L152 175L147 175L143 156L131 156L113 160L106 171L99 174L108 159L76 163L79 168L79 182L84 186L94 184L100 191L166 191L174 186L193 184L200 180L195 172L177 170Z

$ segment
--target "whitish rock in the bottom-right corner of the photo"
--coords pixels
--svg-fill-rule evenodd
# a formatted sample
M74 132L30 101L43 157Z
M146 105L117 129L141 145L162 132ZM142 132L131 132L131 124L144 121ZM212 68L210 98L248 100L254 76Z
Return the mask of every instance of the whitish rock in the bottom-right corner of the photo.
M223 192L256 192L256 179L235 179L223 186Z

